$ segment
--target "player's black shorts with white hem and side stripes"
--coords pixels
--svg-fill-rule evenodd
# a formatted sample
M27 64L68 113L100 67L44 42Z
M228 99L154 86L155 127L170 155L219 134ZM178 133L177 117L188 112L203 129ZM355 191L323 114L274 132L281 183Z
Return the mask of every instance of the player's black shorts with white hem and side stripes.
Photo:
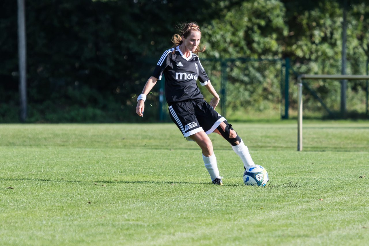
M221 122L225 121L225 118L203 99L172 104L169 106L169 115L189 141L192 141L189 136L197 132L211 134Z

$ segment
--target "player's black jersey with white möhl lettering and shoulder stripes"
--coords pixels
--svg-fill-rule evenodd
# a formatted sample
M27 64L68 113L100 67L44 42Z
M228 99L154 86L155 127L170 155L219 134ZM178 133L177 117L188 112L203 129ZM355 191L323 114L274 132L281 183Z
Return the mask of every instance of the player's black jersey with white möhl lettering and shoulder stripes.
M161 80L162 74L165 77L165 97L169 105L204 98L196 81L199 79L200 84L204 86L209 79L199 57L194 53L191 52L191 55L185 58L179 46L168 49L156 64L152 76Z

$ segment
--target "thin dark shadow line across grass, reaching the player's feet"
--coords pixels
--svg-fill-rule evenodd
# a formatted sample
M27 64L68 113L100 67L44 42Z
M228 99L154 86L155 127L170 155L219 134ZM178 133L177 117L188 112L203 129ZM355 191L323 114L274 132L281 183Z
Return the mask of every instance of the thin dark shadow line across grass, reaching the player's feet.
M92 184L92 185L101 185L101 184L206 184L212 185L210 182L189 182L189 181L128 181L128 180L93 180L93 181L81 181L81 180L50 180L50 179L29 179L29 178L13 178L13 179L4 179L0 178L0 180L6 181L41 181L41 182L59 182L59 183L85 183L85 184ZM99 184L97 184L99 183ZM244 186L244 184L225 184L224 186Z

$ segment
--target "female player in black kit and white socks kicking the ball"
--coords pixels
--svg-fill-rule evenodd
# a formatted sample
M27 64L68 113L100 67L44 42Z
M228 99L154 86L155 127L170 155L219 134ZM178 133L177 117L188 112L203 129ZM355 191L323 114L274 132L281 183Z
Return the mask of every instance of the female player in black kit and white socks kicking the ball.
M137 98L136 113L143 116L146 95L164 75L170 118L184 138L195 141L200 146L211 181L222 186L223 181L213 152L213 143L207 134L216 132L223 136L232 145L234 152L241 157L245 169L254 165L254 162L248 148L232 125L215 111L220 99L197 56L197 53L205 50L199 47L200 39L200 28L194 22L184 24L181 33L173 36L173 48L163 53L154 73ZM200 93L196 84L197 79L201 86L205 86L214 96L210 103L207 103Z

